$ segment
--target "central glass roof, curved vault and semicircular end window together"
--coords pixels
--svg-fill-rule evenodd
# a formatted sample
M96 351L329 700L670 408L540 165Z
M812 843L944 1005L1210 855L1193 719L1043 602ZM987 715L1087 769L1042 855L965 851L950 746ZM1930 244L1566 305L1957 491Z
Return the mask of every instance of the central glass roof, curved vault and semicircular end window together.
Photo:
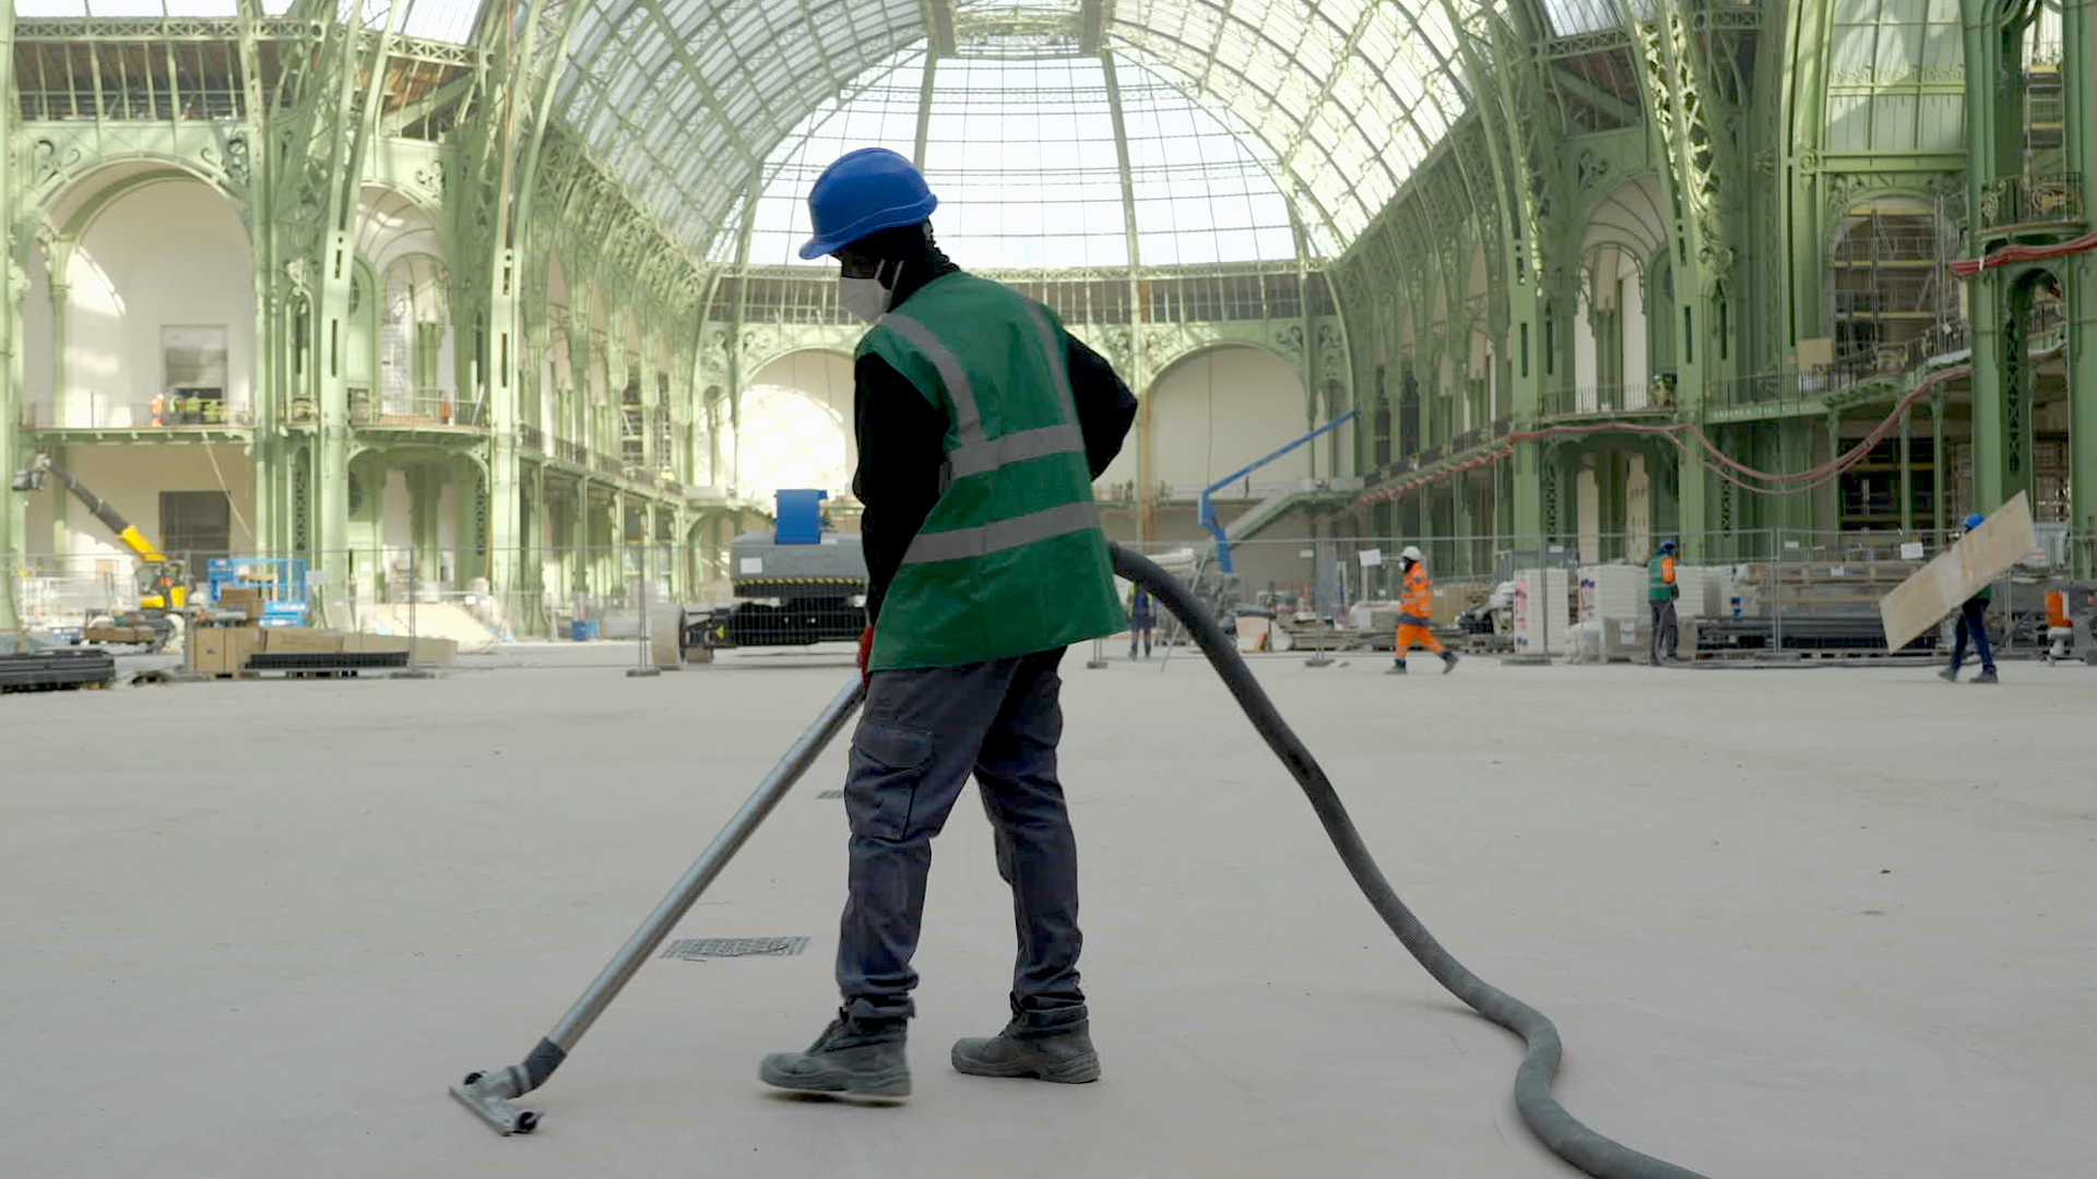
M910 88L923 84L925 57L935 59L925 166L948 172L942 199L963 216L942 222L946 241L1025 233L1028 208L1057 193L1107 201L1120 185L1114 134L1101 132L1111 65L1143 264L1275 256L1288 227L1279 210L1313 254L1338 254L1466 109L1457 34L1439 0L585 2L556 94L564 120L694 252L717 260L736 254L747 224L753 262L780 256L770 235L791 227L768 206L786 195L788 176L805 193L809 164L826 164L812 159L814 145L912 153L921 94ZM992 97L1000 84L1015 97ZM1017 94L1053 94L1055 105L1021 109ZM1032 166L1021 147L1030 117L1055 122L1040 128ZM977 153L954 151L975 138L971 126L1000 145L1000 178L971 176ZM1244 176L1248 162L1269 178ZM1015 197L1015 180L1038 185L1036 195ZM988 197L992 210L963 212L965 197ZM1212 201L1218 218L1168 222L1172 201ZM1126 245L1109 241L1122 224L1116 214L1044 233L1076 250L1057 266L1122 266ZM1153 233L1166 237L1153 243Z

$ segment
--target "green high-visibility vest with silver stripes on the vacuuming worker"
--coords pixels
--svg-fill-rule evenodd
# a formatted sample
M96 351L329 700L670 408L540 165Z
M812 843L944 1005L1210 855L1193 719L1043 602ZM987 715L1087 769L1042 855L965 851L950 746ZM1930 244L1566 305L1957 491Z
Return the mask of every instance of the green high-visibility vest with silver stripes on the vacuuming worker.
M960 667L1124 629L1061 323L954 273L860 340L948 420L946 491L874 623L872 671Z

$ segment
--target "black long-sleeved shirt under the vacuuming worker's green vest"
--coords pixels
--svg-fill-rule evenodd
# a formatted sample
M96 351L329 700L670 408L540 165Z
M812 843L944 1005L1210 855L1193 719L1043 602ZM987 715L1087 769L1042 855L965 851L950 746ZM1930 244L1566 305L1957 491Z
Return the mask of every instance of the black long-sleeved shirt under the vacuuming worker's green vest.
M908 294L916 294L916 287ZM900 306L908 296L902 287L898 296L904 296L895 300ZM1084 457L1093 478L1099 478L1114 455L1122 453L1122 438L1137 420L1137 399L1099 352L1076 336L1063 334L1063 340ZM944 409L881 357L860 357L851 376L853 432L860 441L860 470L851 478L851 493L866 508L860 516L860 541L866 550L866 619L872 621L881 615L889 581L902 569L904 550L939 503L948 420Z

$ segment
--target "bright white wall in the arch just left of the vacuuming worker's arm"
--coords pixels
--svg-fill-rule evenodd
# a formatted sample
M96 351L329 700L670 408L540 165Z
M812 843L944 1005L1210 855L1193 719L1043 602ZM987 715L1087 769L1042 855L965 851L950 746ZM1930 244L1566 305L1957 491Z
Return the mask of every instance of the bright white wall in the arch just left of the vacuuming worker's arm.
M740 491L763 501L780 487L849 495L860 466L851 388L851 359L837 352L791 352L759 369L742 392Z

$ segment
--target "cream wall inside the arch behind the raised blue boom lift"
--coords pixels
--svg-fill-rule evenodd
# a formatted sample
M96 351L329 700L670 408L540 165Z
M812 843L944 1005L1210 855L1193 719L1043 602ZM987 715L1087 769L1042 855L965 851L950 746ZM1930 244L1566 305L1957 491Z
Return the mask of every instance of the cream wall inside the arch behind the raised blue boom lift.
M1311 430L1296 367L1256 348L1216 348L1181 361L1147 396L1153 399L1151 470L1187 497ZM1137 432L1130 430L1101 483L1134 483L1137 470ZM1262 483L1309 474L1311 447L1302 447L1252 474L1254 499Z

